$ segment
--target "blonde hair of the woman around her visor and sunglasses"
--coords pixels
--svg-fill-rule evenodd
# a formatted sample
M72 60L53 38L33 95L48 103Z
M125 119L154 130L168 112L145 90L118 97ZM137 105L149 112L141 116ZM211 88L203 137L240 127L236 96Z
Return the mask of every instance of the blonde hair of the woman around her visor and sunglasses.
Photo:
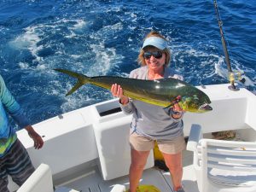
M164 38L159 32L149 32L148 35L146 36L146 38L149 38L149 37L158 37L158 38L163 38L166 40L166 38ZM145 41L145 39L143 39L143 42ZM163 49L162 50L165 54L166 54L166 63L165 63L165 66L169 65L170 61L171 61L171 52L170 52L170 49L166 48L166 49ZM140 53L137 57L137 62L139 64L141 64L142 66L146 66L146 61L144 59L144 50L141 49L140 50Z

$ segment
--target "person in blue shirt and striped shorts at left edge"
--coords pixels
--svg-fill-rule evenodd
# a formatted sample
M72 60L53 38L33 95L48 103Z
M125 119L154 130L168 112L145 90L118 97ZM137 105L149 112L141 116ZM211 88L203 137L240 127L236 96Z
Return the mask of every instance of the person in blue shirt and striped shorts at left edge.
M20 143L14 127L9 123L8 115L21 129L26 129L34 142L34 148L43 147L42 137L29 124L23 109L15 101L0 75L0 192L9 191L8 175L20 186L35 170L26 148Z

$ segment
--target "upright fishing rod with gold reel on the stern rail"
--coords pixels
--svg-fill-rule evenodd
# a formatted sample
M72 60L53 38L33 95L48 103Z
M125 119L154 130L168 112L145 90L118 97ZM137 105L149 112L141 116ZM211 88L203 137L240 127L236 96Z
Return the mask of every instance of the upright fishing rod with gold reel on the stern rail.
M229 79L230 79L230 90L239 90L236 85L235 85L235 80L239 80L241 81L241 83L245 83L245 79L241 78L241 72L233 72L232 71L232 68L231 68L231 65L230 65L230 55L229 55L229 52L228 52L228 49L227 49L227 45L226 45L226 41L225 41L225 38L224 38L224 31L223 31L223 22L222 20L220 19L220 15L219 15L219 12L218 12L218 4L217 4L217 0L213 0L213 3L214 3L214 8L215 8L215 11L216 11L216 15L217 15L217 19L218 19L218 26L219 26L219 32L220 32L220 36L221 36L221 43L222 43L222 46L223 46L223 49L224 49L224 57L225 57L225 61L226 61L226 64L227 64L227 67L228 67L228 71L229 71Z

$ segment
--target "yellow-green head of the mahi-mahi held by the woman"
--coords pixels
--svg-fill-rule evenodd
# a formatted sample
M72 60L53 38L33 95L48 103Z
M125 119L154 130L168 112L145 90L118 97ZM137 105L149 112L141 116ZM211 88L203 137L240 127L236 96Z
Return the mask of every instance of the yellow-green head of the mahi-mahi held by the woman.
M184 111L192 113L206 113L212 111L212 107L209 105L211 103L209 97L203 93L201 95L195 94L192 96L183 96L179 105Z

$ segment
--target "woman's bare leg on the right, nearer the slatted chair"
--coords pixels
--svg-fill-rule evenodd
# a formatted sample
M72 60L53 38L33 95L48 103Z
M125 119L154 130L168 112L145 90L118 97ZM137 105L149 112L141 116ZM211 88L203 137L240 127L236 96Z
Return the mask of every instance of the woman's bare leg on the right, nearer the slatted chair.
M165 154L162 153L166 161L166 166L169 168L171 179L173 183L173 189L182 187L182 177L183 177L183 163L182 163L182 153L178 154Z

